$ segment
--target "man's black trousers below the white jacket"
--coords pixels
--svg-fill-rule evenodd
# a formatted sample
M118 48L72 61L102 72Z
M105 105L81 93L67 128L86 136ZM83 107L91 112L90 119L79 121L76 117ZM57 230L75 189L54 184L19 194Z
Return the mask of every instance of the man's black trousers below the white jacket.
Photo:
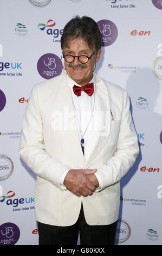
M39 245L76 245L80 232L80 245L114 245L118 221L110 225L88 225L83 206L77 222L58 227L38 222Z

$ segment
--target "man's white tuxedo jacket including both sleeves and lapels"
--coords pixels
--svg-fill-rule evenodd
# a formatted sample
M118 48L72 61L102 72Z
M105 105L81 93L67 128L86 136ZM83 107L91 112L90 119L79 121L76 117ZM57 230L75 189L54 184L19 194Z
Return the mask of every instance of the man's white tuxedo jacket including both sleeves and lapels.
M77 130L72 125L75 124L72 92L66 76L34 86L23 119L19 153L37 175L35 217L46 224L72 225L79 217L82 202L89 225L111 224L118 220L120 179L139 153L129 97L124 89L95 76L95 97L99 111L105 114L106 126L101 128L85 161ZM102 180L100 190L88 197L77 197L63 190L61 176L69 167L97 168Z

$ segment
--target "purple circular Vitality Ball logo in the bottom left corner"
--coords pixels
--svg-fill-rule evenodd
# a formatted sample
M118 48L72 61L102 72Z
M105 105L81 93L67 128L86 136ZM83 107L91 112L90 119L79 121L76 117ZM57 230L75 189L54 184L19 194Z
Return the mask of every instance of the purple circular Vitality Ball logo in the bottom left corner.
M20 229L16 224L8 222L0 226L0 245L15 245L20 237Z

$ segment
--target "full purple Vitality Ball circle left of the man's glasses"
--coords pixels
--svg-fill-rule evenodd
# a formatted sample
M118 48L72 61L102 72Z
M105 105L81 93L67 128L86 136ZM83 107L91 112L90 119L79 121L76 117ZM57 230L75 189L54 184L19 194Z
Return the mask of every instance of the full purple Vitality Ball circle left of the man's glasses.
M37 70L45 79L59 76L62 72L61 59L53 53L44 54L38 59Z

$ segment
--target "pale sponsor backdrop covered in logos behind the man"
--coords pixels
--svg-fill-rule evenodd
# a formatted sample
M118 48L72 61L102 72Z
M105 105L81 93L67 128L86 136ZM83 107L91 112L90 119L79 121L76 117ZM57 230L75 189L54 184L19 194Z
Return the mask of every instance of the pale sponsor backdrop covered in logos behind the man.
M2 0L0 13L0 245L38 245L36 176L18 155L22 118L31 88L64 72L60 38L75 15L98 23L95 73L129 93L139 140L121 180L116 245L161 245L162 1Z

